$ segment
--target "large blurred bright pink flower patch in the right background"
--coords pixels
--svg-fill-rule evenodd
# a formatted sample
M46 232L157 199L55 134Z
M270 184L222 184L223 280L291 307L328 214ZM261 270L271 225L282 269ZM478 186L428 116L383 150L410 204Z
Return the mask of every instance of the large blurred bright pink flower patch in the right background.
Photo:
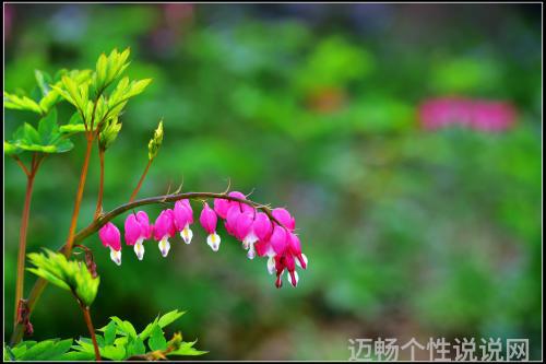
M502 131L515 122L515 108L500 101L461 97L430 98L419 106L419 124L427 130L462 125L484 131Z

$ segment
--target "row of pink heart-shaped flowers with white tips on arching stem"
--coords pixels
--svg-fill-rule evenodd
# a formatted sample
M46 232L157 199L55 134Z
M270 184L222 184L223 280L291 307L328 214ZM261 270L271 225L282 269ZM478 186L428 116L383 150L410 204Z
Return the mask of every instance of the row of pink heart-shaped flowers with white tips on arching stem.
M242 243L247 257L268 257L268 271L276 274L275 285L282 286L282 275L292 285L298 284L296 266L306 269L307 257L301 253L298 236L295 233L296 221L286 209L273 209L269 214L244 202L246 196L241 192L230 192L228 198L214 199L214 207L203 203L199 216L204 231L209 234L206 244L212 250L219 249L221 237L216 233L218 218L224 220L227 233ZM169 238L177 233L186 244L190 244L193 232L193 210L189 200L178 200L173 209L166 209L155 220L154 224L144 211L131 213L124 223L124 237L129 246L134 247L139 260L144 257L144 240L158 242L159 251L166 257L170 250ZM110 248L110 258L121 265L121 234L115 224L108 222L98 232L105 247Z

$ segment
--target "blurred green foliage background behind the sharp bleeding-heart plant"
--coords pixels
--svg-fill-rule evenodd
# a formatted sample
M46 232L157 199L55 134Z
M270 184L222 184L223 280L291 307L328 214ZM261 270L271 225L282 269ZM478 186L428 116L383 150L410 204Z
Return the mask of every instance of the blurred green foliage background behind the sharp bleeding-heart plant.
M97 236L97 327L173 329L206 360L347 360L351 338L529 338L542 355L541 4L5 4L4 90L34 70L93 68L131 47L128 74L153 78L107 153L105 209L126 202L161 117L165 139L140 192L232 187L285 206L309 269L282 290L223 227L176 238L167 259L109 260ZM461 96L510 103L499 131L428 130L418 107ZM69 117L71 108L60 107ZM34 115L8 110L8 134ZM28 251L68 233L83 137L35 185ZM4 333L11 333L23 173L4 162ZM92 160L79 226L93 214ZM161 207L145 210L156 216ZM194 206L198 209L198 206ZM122 225L123 218L115 222ZM35 278L27 274L26 291ZM69 294L48 287L35 339L86 334ZM407 359L402 352L401 357ZM425 354L427 355L427 354ZM427 359L428 356L424 356Z

